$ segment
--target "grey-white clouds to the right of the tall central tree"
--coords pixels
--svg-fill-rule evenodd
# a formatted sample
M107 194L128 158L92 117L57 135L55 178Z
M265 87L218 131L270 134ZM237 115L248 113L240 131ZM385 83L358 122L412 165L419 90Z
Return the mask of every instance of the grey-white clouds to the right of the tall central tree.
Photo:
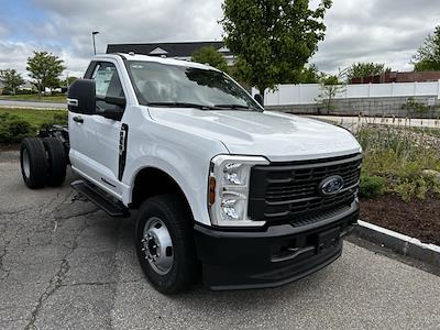
M439 23L436 0L334 0L324 19L327 37L312 63L337 72L355 62L410 70L411 56Z

